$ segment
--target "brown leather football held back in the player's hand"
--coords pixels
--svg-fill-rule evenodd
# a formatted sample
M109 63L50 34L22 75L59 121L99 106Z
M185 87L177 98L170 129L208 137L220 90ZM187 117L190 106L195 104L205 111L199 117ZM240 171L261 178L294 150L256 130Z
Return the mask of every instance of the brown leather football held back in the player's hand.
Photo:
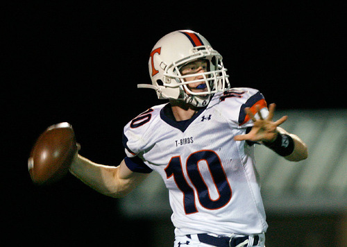
M37 185L60 180L69 171L77 152L74 130L69 123L47 128L35 142L28 159L28 170Z

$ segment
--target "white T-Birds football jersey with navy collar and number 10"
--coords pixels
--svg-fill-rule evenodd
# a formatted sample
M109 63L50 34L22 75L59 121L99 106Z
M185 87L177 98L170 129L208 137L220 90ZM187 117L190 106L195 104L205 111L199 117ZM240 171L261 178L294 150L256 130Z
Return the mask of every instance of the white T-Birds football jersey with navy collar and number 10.
M126 164L158 171L169 189L176 236L265 232L264 206L253 146L235 135L253 125L244 112L267 114L259 91L233 88L215 94L192 119L174 121L169 103L139 114L124 128Z

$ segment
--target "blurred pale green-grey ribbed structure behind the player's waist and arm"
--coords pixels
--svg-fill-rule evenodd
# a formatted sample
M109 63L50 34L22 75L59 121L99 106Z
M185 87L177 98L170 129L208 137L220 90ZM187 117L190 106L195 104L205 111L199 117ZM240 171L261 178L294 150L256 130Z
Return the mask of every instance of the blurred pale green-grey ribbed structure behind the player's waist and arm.
M282 124L301 137L309 157L289 162L261 145L255 148L266 212L343 212L347 209L347 110L276 112L288 115ZM171 214L162 178L151 173L142 185L121 200L128 216Z

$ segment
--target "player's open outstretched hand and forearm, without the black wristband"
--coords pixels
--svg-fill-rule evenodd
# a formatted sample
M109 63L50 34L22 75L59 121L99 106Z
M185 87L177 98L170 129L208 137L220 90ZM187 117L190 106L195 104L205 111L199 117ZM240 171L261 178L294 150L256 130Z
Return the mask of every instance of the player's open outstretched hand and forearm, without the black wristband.
M280 126L280 124L284 123L287 120L287 116L281 117L280 119L278 119L278 121L272 121L273 114L275 112L275 106L275 104L269 105L269 116L266 117L266 119L262 118L260 112L258 112L260 114L260 119L255 119L254 114L249 110L249 108L246 108L245 111L253 120L254 126L251 129L250 133L246 135L237 135L234 139L237 141L250 140L253 142L266 144L266 146L270 146L271 143L276 140L278 135L289 135L291 139L293 139L294 149L289 155L284 156L285 159L295 162L305 160L308 155L306 144L297 135L290 134L283 128L278 127Z

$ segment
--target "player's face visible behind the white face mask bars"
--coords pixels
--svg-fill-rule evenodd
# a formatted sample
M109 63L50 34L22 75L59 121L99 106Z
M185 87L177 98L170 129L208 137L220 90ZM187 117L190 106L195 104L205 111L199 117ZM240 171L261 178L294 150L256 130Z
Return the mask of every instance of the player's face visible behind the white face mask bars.
M205 59L198 59L193 62L189 62L187 65L184 65L180 69L180 74L182 74L183 76L191 74L192 76L185 78L185 81L189 82L192 80L203 79L203 75L201 75L201 73L204 73L207 71L208 71L208 61ZM189 90L192 90L192 92L208 91L206 83L203 81L198 83L189 83L187 87L189 88Z

